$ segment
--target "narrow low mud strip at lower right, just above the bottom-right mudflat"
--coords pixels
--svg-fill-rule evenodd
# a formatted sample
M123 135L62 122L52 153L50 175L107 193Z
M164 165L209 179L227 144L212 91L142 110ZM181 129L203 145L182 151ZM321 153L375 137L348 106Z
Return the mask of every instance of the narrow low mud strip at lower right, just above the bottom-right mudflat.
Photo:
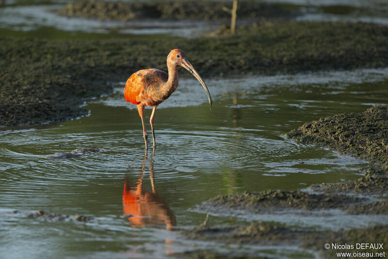
M265 190L239 194L218 195L197 208L200 211L218 213L244 211L250 214L276 213L287 208L324 210L338 208L349 214L388 214L388 203L372 202L368 198L337 193L308 193L300 190Z

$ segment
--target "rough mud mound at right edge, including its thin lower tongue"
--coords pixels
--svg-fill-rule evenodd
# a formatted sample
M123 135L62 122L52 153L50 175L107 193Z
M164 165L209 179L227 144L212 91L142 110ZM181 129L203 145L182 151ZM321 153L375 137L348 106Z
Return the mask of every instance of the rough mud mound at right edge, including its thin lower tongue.
M388 191L388 106L362 113L339 114L303 124L286 136L302 143L323 145L371 162L358 180L311 186L325 192L386 194Z

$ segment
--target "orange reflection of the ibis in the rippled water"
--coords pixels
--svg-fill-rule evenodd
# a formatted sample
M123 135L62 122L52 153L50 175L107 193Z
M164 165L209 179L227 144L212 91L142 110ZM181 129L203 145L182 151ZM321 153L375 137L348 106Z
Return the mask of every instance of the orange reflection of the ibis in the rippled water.
M132 186L126 180L123 191L124 216L134 226L146 226L152 224L165 224L166 229L171 230L177 225L177 220L167 202L158 194L154 180L154 155L153 149L149 164L149 178L151 180L152 191L147 191L144 187L144 173L147 161L147 150L143 158L142 171L139 172L137 184Z

